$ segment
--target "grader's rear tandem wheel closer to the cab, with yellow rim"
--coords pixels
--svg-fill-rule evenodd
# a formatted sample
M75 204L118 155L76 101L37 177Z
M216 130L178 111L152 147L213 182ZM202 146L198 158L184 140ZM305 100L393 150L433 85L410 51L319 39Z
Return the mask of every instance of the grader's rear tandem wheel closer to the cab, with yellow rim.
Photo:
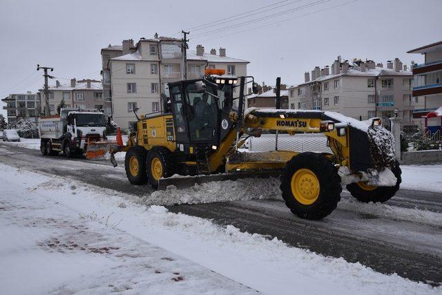
M147 154L146 166L149 182L154 189L158 188L161 178L168 178L173 175L173 155L169 149L155 147Z

